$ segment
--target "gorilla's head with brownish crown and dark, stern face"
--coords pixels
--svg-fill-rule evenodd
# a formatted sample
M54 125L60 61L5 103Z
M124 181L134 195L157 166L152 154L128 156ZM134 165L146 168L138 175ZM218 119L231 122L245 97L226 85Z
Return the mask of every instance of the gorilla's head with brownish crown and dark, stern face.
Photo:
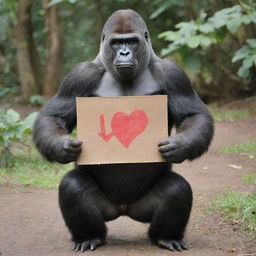
M148 31L141 17L131 11L118 11L106 22L102 32L101 60L118 80L138 76L150 59Z

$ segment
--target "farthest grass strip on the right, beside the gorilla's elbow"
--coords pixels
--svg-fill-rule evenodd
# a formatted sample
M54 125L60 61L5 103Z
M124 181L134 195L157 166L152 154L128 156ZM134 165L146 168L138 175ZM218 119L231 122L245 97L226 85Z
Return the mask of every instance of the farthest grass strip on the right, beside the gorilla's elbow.
M240 119L246 119L252 116L249 110L225 110L217 107L212 107L211 112L215 121L230 121L234 122Z

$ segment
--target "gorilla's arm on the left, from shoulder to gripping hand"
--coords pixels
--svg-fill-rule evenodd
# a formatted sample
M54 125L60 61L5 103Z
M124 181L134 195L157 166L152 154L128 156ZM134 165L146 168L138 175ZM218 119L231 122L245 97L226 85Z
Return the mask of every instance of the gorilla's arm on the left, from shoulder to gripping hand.
M100 71L93 63L78 64L40 112L33 128L33 141L48 161L68 163L77 160L82 143L68 136L76 126L75 97L90 95Z

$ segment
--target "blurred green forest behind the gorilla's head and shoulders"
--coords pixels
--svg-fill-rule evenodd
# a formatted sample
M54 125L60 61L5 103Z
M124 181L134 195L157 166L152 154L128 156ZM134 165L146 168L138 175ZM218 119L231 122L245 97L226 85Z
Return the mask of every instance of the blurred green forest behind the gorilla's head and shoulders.
M0 98L40 104L53 96L70 69L94 59L108 16L127 8L206 103L255 95L255 1L0 0Z

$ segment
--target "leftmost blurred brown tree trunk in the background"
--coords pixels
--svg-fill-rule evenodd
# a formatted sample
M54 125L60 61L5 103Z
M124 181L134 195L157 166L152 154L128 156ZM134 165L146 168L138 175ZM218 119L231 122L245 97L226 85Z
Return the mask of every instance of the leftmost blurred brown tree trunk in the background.
M17 4L17 65L20 76L22 96L28 102L32 95L41 91L41 66L33 40L31 21L32 0L19 0Z

